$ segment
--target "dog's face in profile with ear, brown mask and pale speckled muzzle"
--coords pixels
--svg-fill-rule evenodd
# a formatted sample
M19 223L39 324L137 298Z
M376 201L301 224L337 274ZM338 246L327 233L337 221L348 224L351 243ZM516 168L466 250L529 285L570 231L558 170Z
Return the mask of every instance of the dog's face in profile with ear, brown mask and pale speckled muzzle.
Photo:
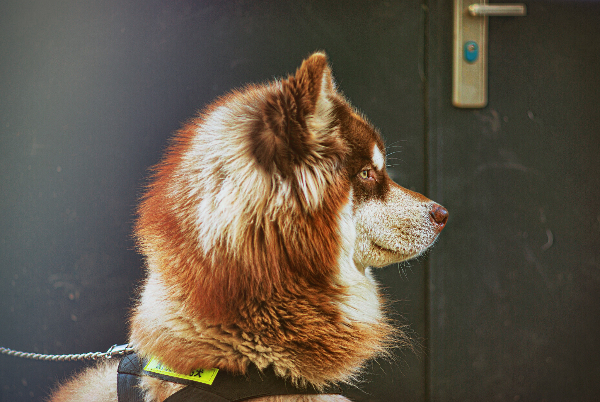
M356 237L353 260L359 269L424 252L448 211L391 180L379 132L336 91L325 54L311 55L273 89L251 136L262 169L286 183L306 213L326 202L329 187L343 189L354 224L343 230Z

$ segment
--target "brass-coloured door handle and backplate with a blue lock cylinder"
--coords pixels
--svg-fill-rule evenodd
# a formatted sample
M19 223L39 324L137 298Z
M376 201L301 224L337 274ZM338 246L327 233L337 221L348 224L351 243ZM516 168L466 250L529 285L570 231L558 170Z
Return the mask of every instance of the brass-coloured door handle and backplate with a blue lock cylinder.
M454 0L454 56L452 105L458 108L484 108L487 105L488 16L525 16L524 4L473 4Z

